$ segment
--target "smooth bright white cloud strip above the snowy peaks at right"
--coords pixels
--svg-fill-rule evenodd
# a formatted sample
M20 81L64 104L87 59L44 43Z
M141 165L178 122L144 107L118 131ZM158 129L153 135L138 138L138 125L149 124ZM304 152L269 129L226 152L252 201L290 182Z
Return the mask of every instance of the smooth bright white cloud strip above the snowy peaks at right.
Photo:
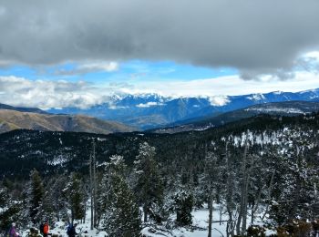
M216 97L267 93L277 90L297 92L311 88L319 88L319 75L302 71L295 72L294 77L289 80L269 75L262 76L260 80L244 80L234 75L165 83L162 81L143 82L135 85L135 88L122 88L122 91L131 94L159 93L168 97Z

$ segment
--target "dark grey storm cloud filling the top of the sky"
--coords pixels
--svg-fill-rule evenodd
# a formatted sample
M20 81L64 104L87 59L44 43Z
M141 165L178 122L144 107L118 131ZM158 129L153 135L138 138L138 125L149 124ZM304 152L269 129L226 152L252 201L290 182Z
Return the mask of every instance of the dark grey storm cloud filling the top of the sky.
M0 64L132 58L284 71L319 46L317 0L0 3Z

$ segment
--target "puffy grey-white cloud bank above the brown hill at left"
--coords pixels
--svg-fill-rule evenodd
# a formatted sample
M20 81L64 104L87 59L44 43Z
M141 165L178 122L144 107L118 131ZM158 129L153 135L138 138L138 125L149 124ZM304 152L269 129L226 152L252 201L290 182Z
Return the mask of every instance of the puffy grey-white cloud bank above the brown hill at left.
M28 80L0 77L0 101L4 104L38 108L87 108L103 102L98 88L84 81Z

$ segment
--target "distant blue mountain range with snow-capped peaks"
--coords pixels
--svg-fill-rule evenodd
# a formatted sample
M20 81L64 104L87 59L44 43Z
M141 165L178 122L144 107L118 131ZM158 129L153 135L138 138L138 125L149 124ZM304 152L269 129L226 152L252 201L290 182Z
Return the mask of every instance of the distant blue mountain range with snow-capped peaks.
M285 101L317 102L319 88L297 93L275 91L220 98L165 98L157 94L114 96L109 97L108 102L91 108L53 108L47 112L85 114L96 118L117 120L139 129L154 129L180 120L214 117L236 109Z

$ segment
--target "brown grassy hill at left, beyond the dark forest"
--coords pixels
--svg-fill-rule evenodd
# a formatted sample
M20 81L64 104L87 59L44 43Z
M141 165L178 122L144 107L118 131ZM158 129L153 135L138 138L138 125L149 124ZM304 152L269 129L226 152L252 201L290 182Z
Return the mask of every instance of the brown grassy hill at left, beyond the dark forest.
M14 129L77 131L99 134L137 130L115 121L106 121L82 115L47 114L41 112L42 110L40 109L38 109L40 113L37 109L30 110L36 112L21 112L13 108L0 108L0 133Z

